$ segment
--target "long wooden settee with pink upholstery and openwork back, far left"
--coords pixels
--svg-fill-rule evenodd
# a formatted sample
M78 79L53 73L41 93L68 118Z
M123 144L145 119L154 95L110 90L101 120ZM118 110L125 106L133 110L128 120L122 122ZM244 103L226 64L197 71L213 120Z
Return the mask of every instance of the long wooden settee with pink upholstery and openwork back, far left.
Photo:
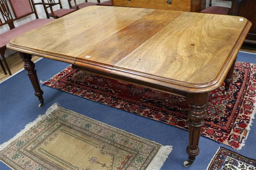
M0 54L1 57L3 58L3 62L6 65L7 71L9 73L9 75L12 75L9 66L6 62L6 58L5 58L5 51L6 51L6 45L7 43L12 39L15 38L27 31L30 31L34 28L37 28L41 25L44 25L50 21L52 21L53 19L38 19L38 15L36 13L35 10L35 5L33 0L30 2L30 0L9 0L11 7L13 9L13 13L15 15L15 19L13 19L11 11L7 5L7 1L6 0L0 0L0 13L2 15L2 19L4 20L4 22L0 22L0 26L1 25L9 25L10 30L7 32L4 32L2 34L0 34ZM31 5L32 3L32 5ZM35 18L32 21L27 22L26 24L20 25L18 27L15 27L13 24L14 20L26 17L30 14L34 14ZM1 64L2 67L2 64Z

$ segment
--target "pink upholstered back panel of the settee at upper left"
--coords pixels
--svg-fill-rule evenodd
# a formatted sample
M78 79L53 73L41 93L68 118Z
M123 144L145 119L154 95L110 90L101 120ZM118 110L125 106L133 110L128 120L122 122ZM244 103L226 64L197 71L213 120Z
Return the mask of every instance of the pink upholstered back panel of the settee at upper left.
M32 7L30 0L10 0L13 13L16 19L20 19L32 13L38 18L34 6ZM32 0L32 4L34 4Z

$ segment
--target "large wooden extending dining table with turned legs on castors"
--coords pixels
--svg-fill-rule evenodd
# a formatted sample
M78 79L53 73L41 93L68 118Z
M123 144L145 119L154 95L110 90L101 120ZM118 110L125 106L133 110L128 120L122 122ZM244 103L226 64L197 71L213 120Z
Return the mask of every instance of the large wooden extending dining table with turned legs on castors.
M189 166L199 154L209 93L223 82L229 90L236 55L250 27L237 16L89 6L13 38L7 48L20 51L40 107L43 91L33 55L186 97L191 108L184 165Z

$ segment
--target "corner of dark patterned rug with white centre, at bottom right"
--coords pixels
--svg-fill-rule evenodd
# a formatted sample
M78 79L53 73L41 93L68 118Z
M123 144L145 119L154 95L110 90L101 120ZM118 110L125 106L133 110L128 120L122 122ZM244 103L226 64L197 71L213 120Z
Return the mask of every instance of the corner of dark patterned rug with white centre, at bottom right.
M256 160L220 147L207 170L256 170Z

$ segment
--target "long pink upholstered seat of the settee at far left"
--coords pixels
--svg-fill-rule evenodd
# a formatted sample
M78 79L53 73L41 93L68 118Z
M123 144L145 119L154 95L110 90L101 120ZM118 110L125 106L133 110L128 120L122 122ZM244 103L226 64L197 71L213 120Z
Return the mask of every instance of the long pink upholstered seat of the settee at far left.
M54 19L34 19L24 25L20 25L12 30L0 34L0 47L5 46L11 39L53 20Z

